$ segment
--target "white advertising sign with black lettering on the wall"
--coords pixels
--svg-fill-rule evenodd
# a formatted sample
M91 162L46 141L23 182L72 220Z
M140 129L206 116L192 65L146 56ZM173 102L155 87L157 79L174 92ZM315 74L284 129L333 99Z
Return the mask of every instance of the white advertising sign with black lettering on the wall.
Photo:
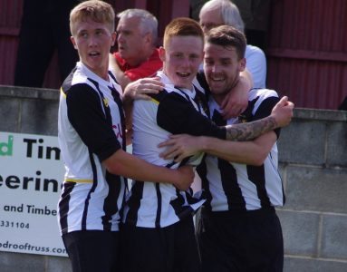
M67 256L57 223L58 138L0 131L0 251Z

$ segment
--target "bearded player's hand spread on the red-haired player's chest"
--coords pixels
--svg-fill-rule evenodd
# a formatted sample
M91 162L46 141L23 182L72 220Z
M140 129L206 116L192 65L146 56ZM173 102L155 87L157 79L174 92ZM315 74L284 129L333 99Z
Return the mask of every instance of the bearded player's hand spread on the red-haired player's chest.
M199 140L199 137L188 134L170 135L169 140L159 143L159 148L167 147L159 156L165 160L174 159L176 162L179 162L200 151L201 143Z

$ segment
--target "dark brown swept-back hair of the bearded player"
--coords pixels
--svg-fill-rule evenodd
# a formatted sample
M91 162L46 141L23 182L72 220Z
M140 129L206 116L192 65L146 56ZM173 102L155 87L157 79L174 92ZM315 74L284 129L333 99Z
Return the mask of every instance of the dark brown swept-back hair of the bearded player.
M207 44L217 44L223 47L235 47L238 59L243 59L246 52L246 36L230 25L220 25L212 28L206 35Z

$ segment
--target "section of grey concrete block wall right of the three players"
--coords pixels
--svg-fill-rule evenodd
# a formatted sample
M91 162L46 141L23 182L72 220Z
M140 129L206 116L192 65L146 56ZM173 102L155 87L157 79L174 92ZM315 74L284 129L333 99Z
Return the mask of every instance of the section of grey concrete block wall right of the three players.
M279 141L284 271L347 271L347 112L294 113Z

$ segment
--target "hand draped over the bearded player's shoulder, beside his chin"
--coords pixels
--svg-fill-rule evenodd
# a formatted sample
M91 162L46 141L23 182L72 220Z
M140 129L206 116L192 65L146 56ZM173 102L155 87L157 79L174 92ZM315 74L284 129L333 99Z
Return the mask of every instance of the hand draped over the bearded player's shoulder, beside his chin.
M251 85L244 77L240 77L236 86L227 93L221 104L224 119L237 117L245 112L248 106L248 91Z

